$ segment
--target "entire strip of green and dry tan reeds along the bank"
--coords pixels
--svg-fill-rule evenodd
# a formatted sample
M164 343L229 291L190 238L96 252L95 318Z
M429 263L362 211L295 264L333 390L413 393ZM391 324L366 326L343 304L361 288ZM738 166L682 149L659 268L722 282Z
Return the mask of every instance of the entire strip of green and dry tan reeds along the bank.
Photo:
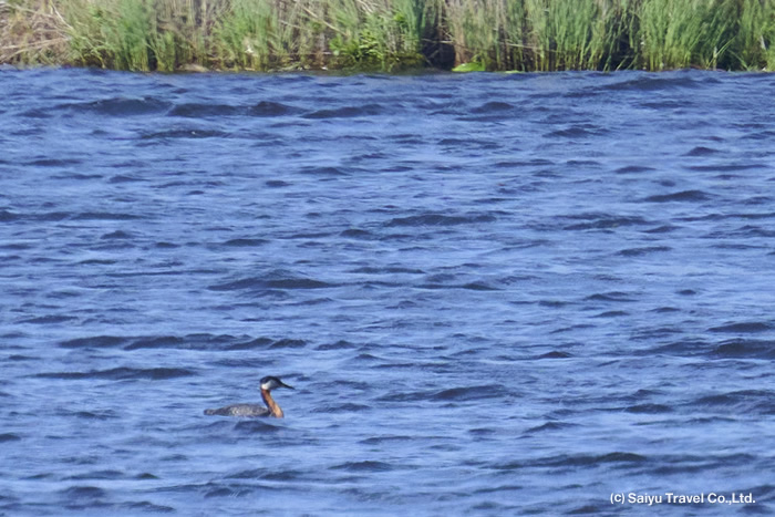
M0 62L775 71L775 0L0 0Z

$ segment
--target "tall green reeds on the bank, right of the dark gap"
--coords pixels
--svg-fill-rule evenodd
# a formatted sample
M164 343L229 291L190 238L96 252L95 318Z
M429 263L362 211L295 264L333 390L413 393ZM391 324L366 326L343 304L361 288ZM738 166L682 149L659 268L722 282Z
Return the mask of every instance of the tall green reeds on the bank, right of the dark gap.
M775 0L447 0L446 14L456 61L489 70L775 70Z

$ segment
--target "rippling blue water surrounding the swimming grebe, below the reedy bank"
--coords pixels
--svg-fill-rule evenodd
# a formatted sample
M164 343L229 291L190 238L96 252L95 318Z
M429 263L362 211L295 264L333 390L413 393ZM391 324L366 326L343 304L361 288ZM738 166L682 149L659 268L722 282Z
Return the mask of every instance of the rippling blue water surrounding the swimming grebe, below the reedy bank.
M775 511L773 75L0 91L0 514Z

